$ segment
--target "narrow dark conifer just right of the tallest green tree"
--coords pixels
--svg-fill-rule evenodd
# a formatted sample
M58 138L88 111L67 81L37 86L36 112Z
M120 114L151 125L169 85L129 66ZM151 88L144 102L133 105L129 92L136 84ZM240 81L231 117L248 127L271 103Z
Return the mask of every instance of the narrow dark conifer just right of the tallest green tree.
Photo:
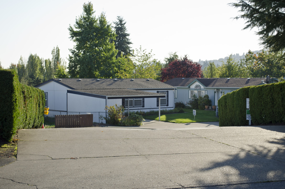
M118 54L116 58L121 57L121 55L128 55L131 54L132 50L130 45L133 44L129 39L130 34L127 33L127 28L125 26L126 22L123 17L117 16L117 21L114 22L115 24L115 33L116 33L116 40L115 40L115 48L118 50Z

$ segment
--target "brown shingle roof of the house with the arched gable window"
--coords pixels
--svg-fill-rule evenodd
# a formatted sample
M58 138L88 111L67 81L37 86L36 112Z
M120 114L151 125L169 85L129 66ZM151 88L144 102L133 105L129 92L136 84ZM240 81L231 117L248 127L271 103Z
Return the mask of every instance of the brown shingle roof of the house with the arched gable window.
M260 85L266 78L174 78L164 83L174 87L188 87L195 79L205 87L233 87L241 88L253 85Z

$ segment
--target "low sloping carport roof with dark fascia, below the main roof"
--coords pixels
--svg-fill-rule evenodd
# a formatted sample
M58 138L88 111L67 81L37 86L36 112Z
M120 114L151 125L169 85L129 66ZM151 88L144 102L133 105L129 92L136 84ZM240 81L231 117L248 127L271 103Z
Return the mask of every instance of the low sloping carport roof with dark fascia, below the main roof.
M151 93L133 89L77 89L68 90L68 93L85 96L94 96L97 98L156 98L165 97L165 94Z

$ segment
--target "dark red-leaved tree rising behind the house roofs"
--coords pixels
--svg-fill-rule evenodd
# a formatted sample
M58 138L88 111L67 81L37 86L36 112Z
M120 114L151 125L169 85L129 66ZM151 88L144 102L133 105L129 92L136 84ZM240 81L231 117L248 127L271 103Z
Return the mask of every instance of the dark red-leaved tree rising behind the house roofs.
M161 69L161 82L168 81L176 77L203 77L203 71L198 62L184 58L176 59L168 64L167 67Z

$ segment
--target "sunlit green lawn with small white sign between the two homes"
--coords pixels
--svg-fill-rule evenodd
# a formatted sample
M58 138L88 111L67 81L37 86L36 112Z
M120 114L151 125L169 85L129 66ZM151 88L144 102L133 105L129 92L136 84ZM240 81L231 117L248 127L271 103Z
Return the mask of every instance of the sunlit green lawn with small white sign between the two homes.
M193 110L184 109L184 113L160 115L160 121L172 123L194 123L194 122L212 122L219 121L216 117L216 111L196 110L194 120ZM143 116L144 119L158 120L158 115Z

